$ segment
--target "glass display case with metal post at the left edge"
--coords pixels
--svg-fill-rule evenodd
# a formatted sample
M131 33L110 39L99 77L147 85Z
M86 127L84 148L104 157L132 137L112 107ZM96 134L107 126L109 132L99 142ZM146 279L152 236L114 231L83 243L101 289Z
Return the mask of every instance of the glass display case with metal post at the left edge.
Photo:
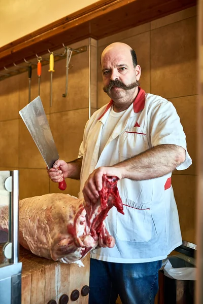
M21 303L21 270L18 262L19 173L0 171L0 302Z

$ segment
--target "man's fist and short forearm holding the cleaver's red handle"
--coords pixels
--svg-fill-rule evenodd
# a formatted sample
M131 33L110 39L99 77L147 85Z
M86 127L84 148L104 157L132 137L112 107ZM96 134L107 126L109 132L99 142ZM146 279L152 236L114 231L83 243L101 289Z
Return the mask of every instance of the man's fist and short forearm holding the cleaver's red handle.
M60 182L63 178L80 179L82 159L78 158L72 162L66 163L63 160L55 161L53 168L47 168L49 177L54 182ZM59 169L60 168L60 169Z

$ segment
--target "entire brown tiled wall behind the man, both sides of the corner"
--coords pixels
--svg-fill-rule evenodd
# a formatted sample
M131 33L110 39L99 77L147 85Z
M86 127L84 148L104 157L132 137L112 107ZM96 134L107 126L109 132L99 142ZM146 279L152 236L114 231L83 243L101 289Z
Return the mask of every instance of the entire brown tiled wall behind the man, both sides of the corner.
M196 36L196 8L193 7L98 42L91 40L90 53L87 51L72 57L73 67L69 70L69 91L66 98L62 97L65 89L65 60L56 62L51 108L50 74L47 65L42 70L41 85L41 98L59 156L66 161L73 160L77 158L84 126L89 117L89 104L92 113L109 101L109 97L103 92L101 52L108 44L116 41L127 43L136 50L142 67L142 88L173 102L187 136L193 165L187 170L175 171L172 182L182 236L190 242L195 242ZM88 44L89 41L84 40L72 47ZM89 57L92 64L90 74ZM31 99L38 95L35 71L32 71ZM21 199L59 192L57 184L49 181L43 159L19 117L18 111L27 104L27 99L27 73L0 82L0 170L19 169ZM78 181L67 180L65 193L77 196L78 190Z

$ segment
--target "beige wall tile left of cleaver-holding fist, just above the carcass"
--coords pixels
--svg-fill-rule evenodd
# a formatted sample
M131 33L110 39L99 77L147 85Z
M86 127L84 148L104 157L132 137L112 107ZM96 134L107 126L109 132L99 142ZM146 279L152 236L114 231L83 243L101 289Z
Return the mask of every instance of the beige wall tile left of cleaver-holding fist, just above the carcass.
M46 169L20 169L20 200L49 193L49 177Z

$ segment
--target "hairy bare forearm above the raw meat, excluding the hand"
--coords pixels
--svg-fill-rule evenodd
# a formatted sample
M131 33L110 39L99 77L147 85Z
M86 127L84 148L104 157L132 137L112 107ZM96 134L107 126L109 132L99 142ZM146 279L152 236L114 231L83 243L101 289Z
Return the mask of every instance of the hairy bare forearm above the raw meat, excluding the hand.
M113 167L120 168L122 178L145 180L163 176L184 162L185 149L174 144L162 144Z

